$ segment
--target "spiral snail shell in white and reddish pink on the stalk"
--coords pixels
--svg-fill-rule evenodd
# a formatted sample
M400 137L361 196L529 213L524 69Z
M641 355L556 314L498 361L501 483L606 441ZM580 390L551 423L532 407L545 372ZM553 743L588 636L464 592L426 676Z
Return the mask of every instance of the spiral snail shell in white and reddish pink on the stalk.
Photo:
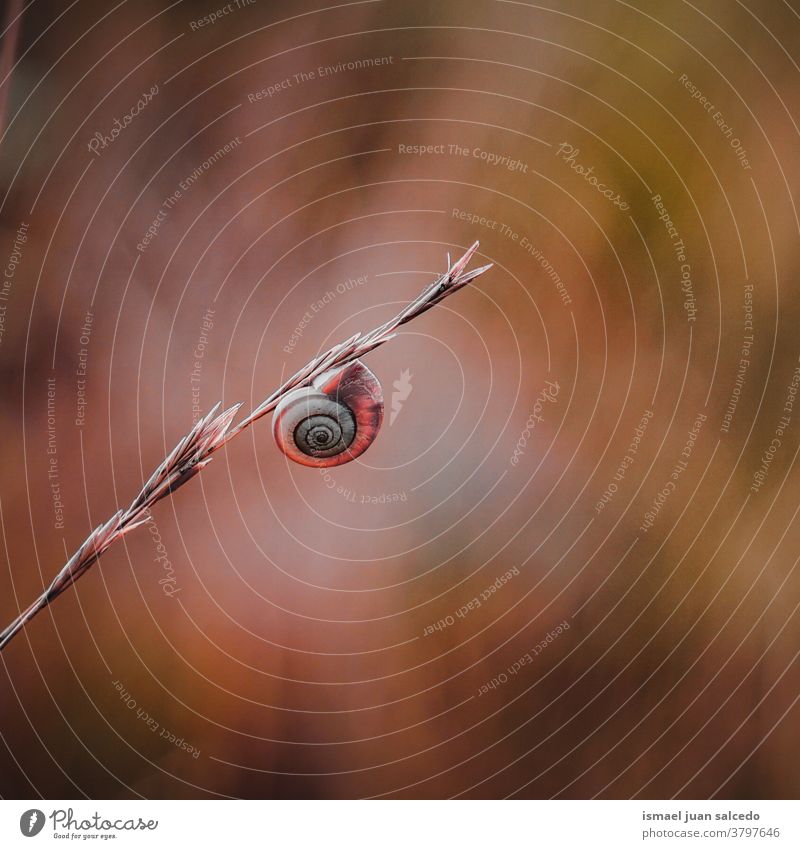
M349 463L363 454L382 421L381 385L356 360L290 392L275 408L272 432L289 459L324 468Z

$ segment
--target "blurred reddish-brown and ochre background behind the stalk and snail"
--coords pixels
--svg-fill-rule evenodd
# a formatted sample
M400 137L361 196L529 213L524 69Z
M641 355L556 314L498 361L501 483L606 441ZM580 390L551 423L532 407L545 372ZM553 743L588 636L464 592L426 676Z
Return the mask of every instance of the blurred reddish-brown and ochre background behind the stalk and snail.
M0 793L796 797L797 4L20 8L2 624L214 403L495 267L358 461L262 420L3 651Z

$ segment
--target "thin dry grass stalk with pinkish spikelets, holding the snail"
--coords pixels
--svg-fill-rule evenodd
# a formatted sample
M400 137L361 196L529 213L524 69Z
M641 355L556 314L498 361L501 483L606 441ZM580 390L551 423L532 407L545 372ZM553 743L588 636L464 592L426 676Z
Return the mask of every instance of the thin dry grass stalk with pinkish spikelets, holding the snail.
M272 412L287 393L307 386L330 369L345 366L374 351L384 342L393 339L399 327L427 312L491 268L491 265L484 265L472 271L466 270L477 249L478 242L475 242L464 256L452 265L448 257L447 271L393 319L369 333L356 333L311 360L238 424L234 425L233 420L241 404L234 404L221 412L221 405L216 404L172 449L130 505L118 510L110 519L95 528L44 592L0 632L0 650L4 649L37 613L44 610L85 574L110 545L148 522L150 508L156 502L172 495L190 481L211 462L216 451L250 427L253 422Z

